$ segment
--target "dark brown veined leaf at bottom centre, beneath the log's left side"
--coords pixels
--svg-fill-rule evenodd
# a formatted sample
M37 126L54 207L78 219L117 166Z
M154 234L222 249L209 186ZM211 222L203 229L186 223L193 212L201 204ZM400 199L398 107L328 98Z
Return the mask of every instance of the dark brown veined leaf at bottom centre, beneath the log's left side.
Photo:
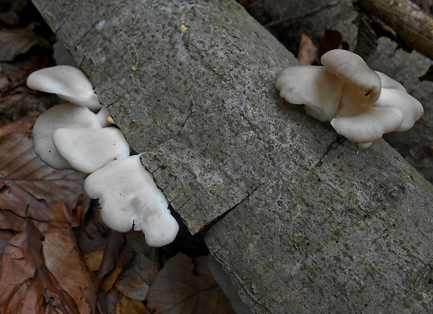
M207 268L207 256L170 258L150 287L147 306L156 313L235 313Z

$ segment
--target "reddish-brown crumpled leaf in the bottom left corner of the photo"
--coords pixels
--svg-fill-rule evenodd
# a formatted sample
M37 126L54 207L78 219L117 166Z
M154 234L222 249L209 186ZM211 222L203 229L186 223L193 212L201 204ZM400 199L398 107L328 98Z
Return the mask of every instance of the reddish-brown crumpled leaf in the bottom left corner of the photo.
M27 220L1 257L1 313L78 313L43 264L42 234Z

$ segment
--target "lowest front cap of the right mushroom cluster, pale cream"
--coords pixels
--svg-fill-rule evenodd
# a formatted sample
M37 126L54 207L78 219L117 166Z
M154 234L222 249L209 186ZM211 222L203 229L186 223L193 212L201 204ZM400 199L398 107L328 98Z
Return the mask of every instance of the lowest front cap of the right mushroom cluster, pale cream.
M340 112L331 125L352 142L368 143L392 132L402 121L403 113L394 107L358 107L358 110Z

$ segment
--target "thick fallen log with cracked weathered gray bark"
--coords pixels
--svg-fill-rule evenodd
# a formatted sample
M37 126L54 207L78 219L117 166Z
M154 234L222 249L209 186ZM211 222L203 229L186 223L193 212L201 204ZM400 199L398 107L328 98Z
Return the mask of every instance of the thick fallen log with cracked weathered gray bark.
M433 310L432 185L284 103L296 61L237 3L34 3L254 312Z

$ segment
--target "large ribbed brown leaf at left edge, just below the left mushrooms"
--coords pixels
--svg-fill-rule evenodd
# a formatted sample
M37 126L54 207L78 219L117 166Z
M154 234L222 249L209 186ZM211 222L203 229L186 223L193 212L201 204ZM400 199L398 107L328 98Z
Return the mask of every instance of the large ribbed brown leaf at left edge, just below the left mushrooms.
M58 202L75 207L85 194L82 182L86 175L45 165L28 136L9 133L0 137L0 209L48 221L47 207ZM89 204L87 198L85 204Z

